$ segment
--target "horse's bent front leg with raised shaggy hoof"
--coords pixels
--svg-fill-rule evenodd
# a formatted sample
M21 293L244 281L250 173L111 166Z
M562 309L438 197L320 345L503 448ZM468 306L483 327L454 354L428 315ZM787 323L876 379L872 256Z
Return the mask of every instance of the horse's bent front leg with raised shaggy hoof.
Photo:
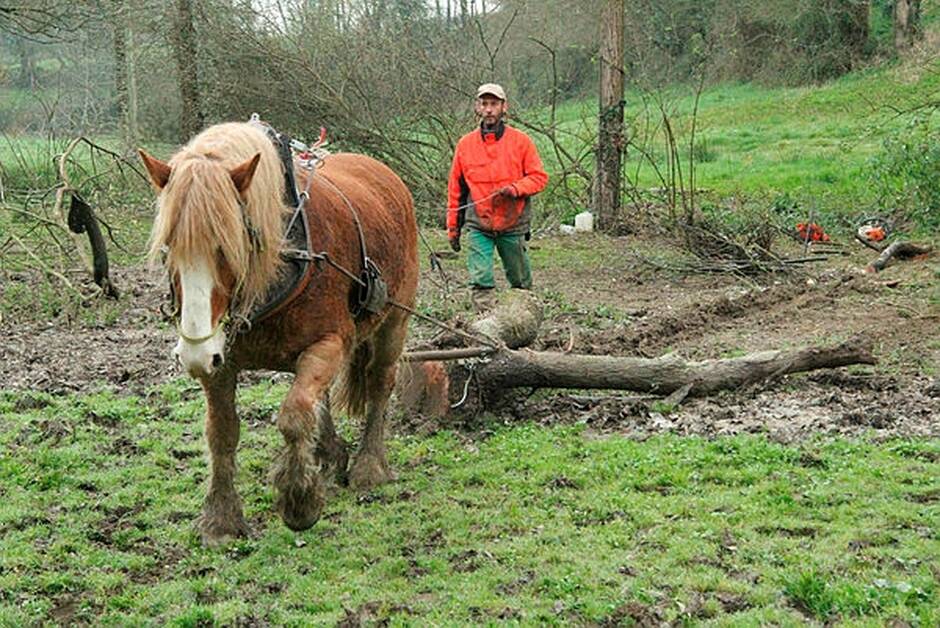
M336 335L304 351L297 360L294 383L281 404L277 427L284 436L284 451L273 473L275 508L292 530L306 530L323 510L316 407L339 370L343 354L343 341Z

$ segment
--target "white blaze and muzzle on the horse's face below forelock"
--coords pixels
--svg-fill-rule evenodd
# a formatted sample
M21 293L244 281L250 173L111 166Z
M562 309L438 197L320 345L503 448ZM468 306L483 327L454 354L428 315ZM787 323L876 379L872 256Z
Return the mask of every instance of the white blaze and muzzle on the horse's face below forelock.
M213 357L225 349L225 330L202 342L212 333L212 271L204 260L194 261L180 268L182 311L180 312L180 339L173 353L183 368L192 375L208 375L213 369ZM184 338L185 336L185 338ZM189 338L190 340L187 340Z

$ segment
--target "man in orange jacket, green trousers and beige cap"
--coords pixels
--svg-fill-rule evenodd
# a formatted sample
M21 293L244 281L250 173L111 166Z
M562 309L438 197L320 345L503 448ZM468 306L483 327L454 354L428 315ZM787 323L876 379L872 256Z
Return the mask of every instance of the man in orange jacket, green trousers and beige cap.
M467 270L470 285L490 290L493 249L513 288L532 287L532 271L525 240L531 220L530 197L548 183L535 144L529 136L507 126L506 92L495 83L477 90L476 113L480 128L457 142L447 183L447 237L460 251L460 231L469 230Z

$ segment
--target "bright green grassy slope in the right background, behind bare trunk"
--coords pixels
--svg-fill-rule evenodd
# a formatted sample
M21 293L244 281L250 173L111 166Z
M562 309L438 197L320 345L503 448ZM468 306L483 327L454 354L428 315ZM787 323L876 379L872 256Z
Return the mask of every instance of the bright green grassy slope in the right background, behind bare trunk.
M903 109L940 92L934 65L916 80L893 66L856 72L820 86L766 88L753 84L721 84L707 88L699 103L696 130L696 187L715 196L773 197L787 194L823 210L846 211L871 204L869 160L884 139L908 120L889 108ZM663 92L676 128L682 168L688 172L693 93L691 88ZM626 94L626 119L631 137L644 144L646 116L638 92ZM595 128L596 101L568 102L557 112L562 143L577 151L580 129ZM658 125L657 115L651 120ZM545 119L545 112L527 113ZM650 135L647 148L664 169L660 133ZM537 138L549 172L560 167L550 145ZM586 166L593 168L588 161ZM661 185L636 149L627 150L625 172L641 189ZM890 208L883 208L890 209ZM574 211L574 210L571 210ZM570 216L566 216L570 218Z

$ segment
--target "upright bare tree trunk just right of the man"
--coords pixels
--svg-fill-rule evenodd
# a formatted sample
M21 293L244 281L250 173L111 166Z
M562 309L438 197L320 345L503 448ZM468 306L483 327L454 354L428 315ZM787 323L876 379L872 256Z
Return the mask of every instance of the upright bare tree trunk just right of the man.
M601 16L600 112L594 211L598 228L610 229L620 213L623 155L623 0L607 0Z

